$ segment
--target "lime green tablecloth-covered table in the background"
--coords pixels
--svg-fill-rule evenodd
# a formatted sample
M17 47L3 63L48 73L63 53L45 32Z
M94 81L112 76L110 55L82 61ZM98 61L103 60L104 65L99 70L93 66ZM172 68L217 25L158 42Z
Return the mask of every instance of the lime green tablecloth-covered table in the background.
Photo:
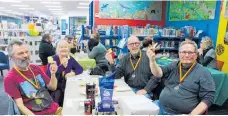
M88 58L88 56L83 55L81 57L76 55L71 55L75 60L83 67L83 70L88 68L94 68L96 66L96 61L94 59Z

